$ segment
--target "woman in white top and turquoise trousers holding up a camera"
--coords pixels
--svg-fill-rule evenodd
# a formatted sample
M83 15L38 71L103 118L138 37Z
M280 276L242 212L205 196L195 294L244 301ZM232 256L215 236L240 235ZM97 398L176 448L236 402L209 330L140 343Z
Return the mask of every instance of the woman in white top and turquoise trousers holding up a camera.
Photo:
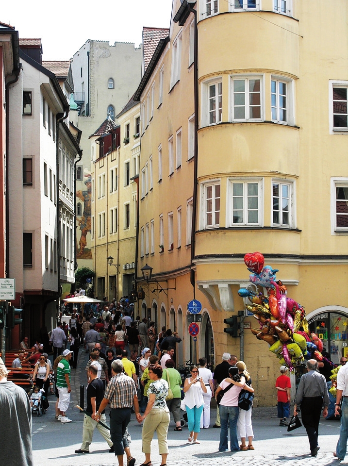
M198 377L198 367L191 366L191 377L185 380L183 391L185 393L184 403L186 406L188 430L188 442L200 443L197 440L199 434L200 417L202 415L204 400L203 393L207 393L207 387L204 385L203 379Z

